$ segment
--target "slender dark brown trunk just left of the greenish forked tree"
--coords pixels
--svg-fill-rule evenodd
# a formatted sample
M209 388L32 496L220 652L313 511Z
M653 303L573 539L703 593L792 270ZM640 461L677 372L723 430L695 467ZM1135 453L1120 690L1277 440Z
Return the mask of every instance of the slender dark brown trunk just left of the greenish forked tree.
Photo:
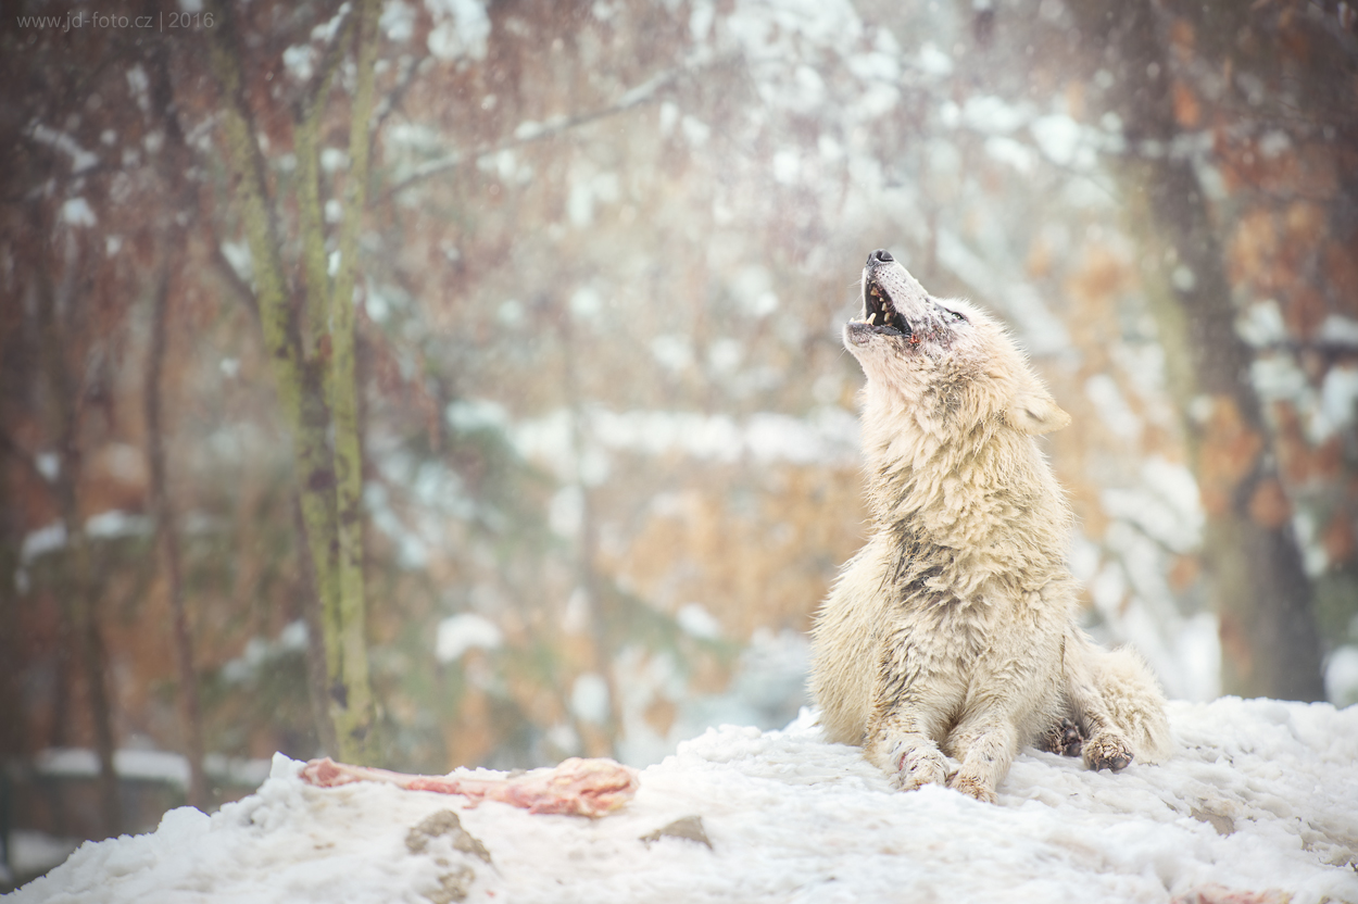
M185 611L183 580L179 557L179 531L170 501L170 476L166 462L164 425L162 423L162 385L164 373L170 288L178 269L178 254L168 252L156 280L151 300L151 347L147 352L147 459L151 463L151 510L156 520L156 546L170 593L174 622L175 664L179 671L179 711L183 722L185 757L189 760L190 806L208 808L208 779L202 771L202 709L198 703L198 673L193 665L193 634Z

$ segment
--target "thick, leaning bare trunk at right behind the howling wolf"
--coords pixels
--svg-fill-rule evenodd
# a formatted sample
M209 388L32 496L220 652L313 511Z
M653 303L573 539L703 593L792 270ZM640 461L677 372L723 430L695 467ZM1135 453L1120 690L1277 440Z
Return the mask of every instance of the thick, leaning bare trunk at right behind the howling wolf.
M1142 214L1149 257L1164 263L1154 304L1177 377L1207 514L1203 558L1221 619L1222 687L1241 696L1324 699L1312 586L1293 535L1207 200L1176 153L1169 58L1150 0L1071 4L1104 46L1128 157L1124 194ZM1272 504L1282 501L1282 504Z

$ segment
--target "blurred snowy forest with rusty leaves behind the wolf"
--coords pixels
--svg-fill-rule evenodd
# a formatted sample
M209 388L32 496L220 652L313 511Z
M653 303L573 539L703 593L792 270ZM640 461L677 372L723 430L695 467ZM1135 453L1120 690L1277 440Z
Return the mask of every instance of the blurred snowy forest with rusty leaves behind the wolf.
M1354 4L3 10L4 881L274 751L785 723L877 247L1071 413L1101 641L1358 699Z

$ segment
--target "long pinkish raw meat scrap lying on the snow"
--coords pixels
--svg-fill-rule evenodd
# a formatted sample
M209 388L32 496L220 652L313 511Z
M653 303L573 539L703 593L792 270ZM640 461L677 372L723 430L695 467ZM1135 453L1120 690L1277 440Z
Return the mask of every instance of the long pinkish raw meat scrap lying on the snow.
M330 757L311 760L301 768L301 780L316 787L338 787L350 782L383 782L407 791L460 794L474 804L500 801L530 813L562 813L599 817L611 813L637 793L636 770L612 760L570 757L550 770L534 770L509 778L462 778L456 775L407 775L367 766L335 763Z

